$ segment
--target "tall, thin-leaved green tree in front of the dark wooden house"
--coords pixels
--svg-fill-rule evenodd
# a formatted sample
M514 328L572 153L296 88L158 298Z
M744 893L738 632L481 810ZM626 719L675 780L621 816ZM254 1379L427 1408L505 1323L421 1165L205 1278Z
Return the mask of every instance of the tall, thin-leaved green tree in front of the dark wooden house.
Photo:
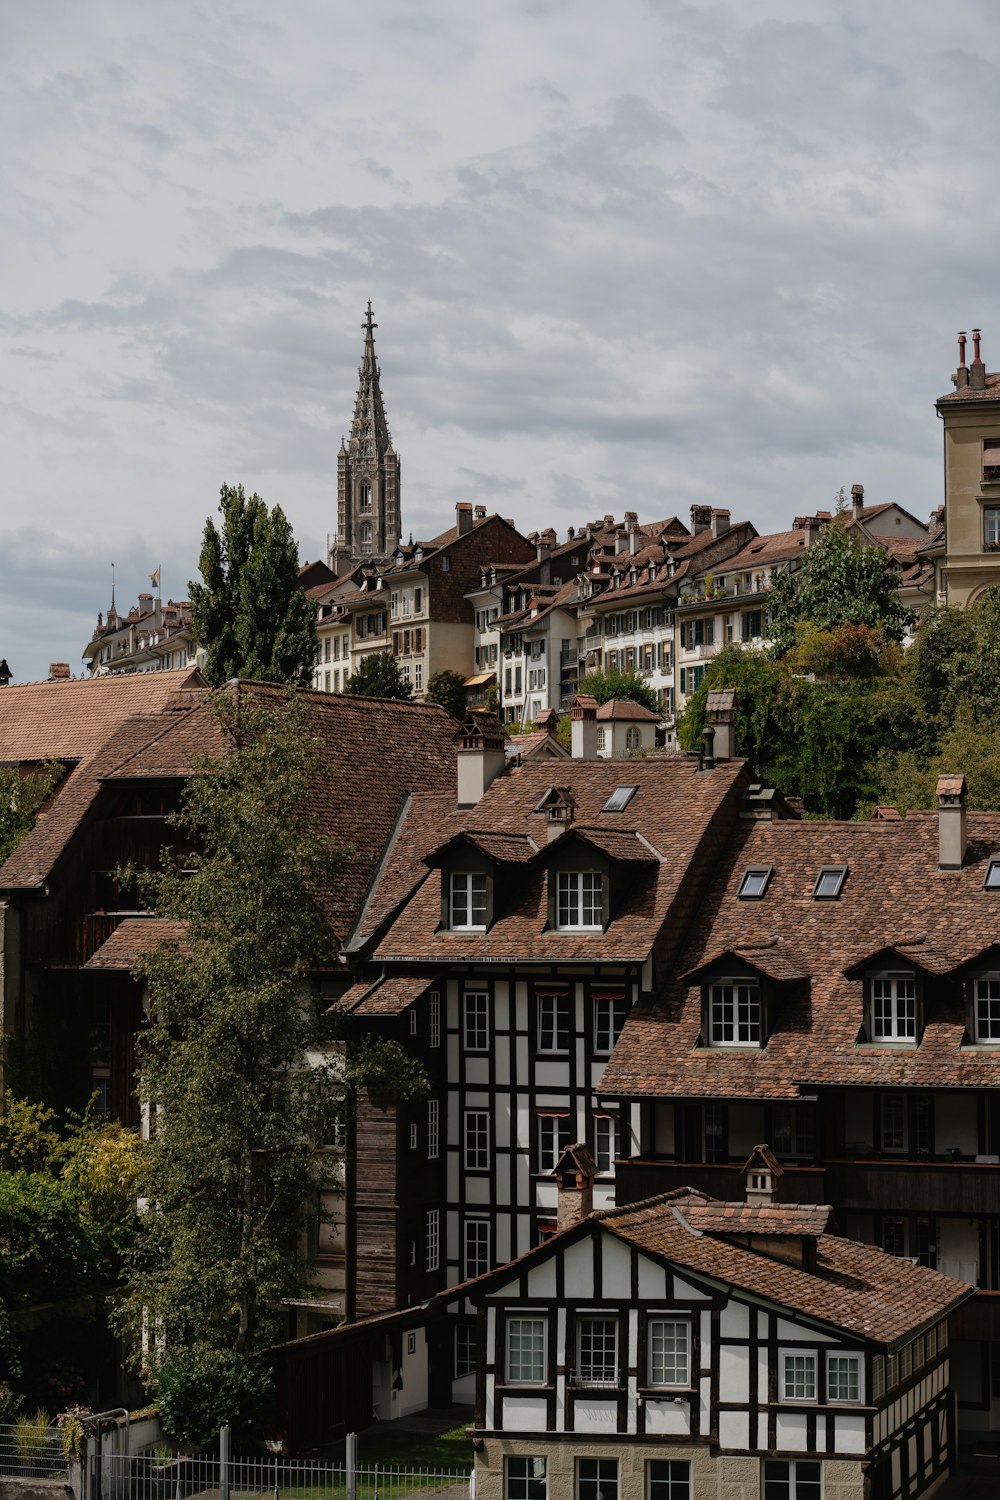
M198 854L150 878L156 912L184 922L184 938L136 968L151 1006L141 1088L162 1124L139 1182L156 1210L142 1215L118 1322L135 1347L156 1328L171 1359L246 1354L274 1336L282 1299L307 1294L298 1245L324 1180L318 1143L369 1060L330 1047L309 986L331 950L318 892L345 850L309 831L321 764L304 706L238 690L214 711L225 753L199 764L174 816ZM400 1048L379 1059L397 1089L420 1088Z

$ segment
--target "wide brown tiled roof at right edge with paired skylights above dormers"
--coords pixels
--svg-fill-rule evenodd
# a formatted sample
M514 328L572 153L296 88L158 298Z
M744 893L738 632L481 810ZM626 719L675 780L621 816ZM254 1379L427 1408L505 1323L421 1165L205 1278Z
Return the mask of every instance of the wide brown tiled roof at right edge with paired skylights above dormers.
M951 972L1000 932L1000 891L984 890L988 860L1000 849L1000 813L969 813L967 826L966 864L939 870L934 813L895 822L741 824L696 912L679 978L654 1006L630 1012L603 1090L780 1100L795 1098L799 1084L1000 1083L1000 1048L966 1044L961 976ZM739 898L748 866L774 867L760 900ZM847 866L837 900L813 897L822 866ZM804 957L811 980L777 994L766 1046L699 1046L702 994L693 975L726 951L760 963L769 950L750 954L747 945L775 936ZM891 948L901 951L897 963L927 974L925 1024L915 1047L859 1044L864 984L844 970Z

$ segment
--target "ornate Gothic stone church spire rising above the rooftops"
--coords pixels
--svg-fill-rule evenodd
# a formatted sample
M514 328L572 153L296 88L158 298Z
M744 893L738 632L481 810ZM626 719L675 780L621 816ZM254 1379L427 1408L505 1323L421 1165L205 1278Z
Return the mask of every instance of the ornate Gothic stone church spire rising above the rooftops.
M337 454L337 542L330 566L385 561L399 544L399 458L388 435L378 362L372 303L361 324L364 352L358 370L351 438Z

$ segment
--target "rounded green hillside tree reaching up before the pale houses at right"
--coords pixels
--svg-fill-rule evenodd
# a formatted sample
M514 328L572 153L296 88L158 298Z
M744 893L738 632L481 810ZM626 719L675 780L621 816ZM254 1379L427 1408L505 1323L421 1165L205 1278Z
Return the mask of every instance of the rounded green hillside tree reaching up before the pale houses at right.
M913 612L895 594L897 579L885 548L864 548L834 518L807 550L798 574L775 573L768 594L769 633L777 656L796 642L796 626L811 621L823 630L870 626L886 640L903 640Z

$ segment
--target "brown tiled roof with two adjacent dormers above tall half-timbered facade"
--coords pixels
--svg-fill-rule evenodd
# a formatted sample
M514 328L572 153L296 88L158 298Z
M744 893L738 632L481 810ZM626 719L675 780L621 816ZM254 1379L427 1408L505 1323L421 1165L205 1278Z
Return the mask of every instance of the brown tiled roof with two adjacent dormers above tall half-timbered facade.
M714 820L727 824L733 816L735 798L747 784L748 772L742 760L699 771L697 759L687 756L628 762L559 760L555 768L534 760L499 776L483 800L462 814L465 822L459 826L478 832L528 834L535 843L543 843L544 813L534 808L556 778L570 789L576 802L577 826L618 836L624 832L631 840L640 832L663 858L663 862L642 868L633 866L622 908L613 914L607 930L594 934L549 930L543 852L523 874L519 872L514 880L498 882L495 921L486 933L438 930L441 882L430 876L378 940L376 962L643 962ZM601 813L612 792L625 782L639 788L625 810ZM412 813L408 824L411 819ZM441 832L433 840L433 844L439 843ZM559 843L547 848L558 849ZM433 844L427 840L424 848ZM633 842L630 848L634 846Z

